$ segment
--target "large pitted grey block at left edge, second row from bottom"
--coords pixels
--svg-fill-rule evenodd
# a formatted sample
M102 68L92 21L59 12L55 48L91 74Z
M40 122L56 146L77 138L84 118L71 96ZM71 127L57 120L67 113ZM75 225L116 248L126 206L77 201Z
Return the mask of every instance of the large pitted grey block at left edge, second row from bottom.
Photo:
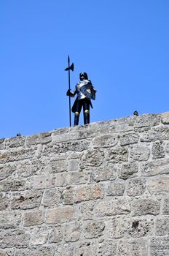
M30 235L24 230L9 230L0 233L1 248L26 248L28 247Z

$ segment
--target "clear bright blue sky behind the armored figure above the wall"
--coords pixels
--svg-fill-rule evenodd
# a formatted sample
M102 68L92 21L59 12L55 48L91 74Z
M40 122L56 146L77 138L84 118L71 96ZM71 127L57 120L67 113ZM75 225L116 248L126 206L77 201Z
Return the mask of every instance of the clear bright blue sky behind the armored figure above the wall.
M0 138L69 126L68 54L71 89L84 71L98 90L91 122L168 111L168 49L168 0L1 0Z

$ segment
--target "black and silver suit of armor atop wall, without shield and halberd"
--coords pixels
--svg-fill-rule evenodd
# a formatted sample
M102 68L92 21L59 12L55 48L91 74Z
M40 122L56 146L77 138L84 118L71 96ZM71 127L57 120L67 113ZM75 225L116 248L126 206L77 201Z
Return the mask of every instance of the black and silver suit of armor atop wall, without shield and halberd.
M74 102L74 105L71 109L71 111L74 113L74 126L79 124L79 115L83 107L83 116L84 116L84 124L90 123L90 106L93 108L92 102L90 100L90 97L85 96L82 93L82 87L83 89L87 88L87 86L90 85L90 87L93 89L94 92L96 92L96 89L93 88L92 83L87 78L87 73L82 72L79 75L80 81L76 84L76 88L74 92L67 91L67 95L70 97L74 97L77 94L76 100ZM90 95L90 94L89 94Z

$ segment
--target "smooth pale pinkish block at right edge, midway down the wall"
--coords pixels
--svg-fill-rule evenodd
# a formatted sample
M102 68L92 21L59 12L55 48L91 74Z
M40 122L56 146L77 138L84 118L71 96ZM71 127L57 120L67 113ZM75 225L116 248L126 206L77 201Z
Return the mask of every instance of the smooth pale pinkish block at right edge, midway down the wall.
M150 193L169 192L169 177L158 176L155 178L149 178L147 181L147 188Z

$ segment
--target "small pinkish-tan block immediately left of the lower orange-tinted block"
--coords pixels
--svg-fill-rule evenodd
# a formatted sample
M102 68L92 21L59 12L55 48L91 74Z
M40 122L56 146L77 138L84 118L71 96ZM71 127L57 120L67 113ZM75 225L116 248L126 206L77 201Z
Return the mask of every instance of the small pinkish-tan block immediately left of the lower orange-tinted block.
M41 210L28 211L24 214L24 226L41 225L44 222L44 213Z

